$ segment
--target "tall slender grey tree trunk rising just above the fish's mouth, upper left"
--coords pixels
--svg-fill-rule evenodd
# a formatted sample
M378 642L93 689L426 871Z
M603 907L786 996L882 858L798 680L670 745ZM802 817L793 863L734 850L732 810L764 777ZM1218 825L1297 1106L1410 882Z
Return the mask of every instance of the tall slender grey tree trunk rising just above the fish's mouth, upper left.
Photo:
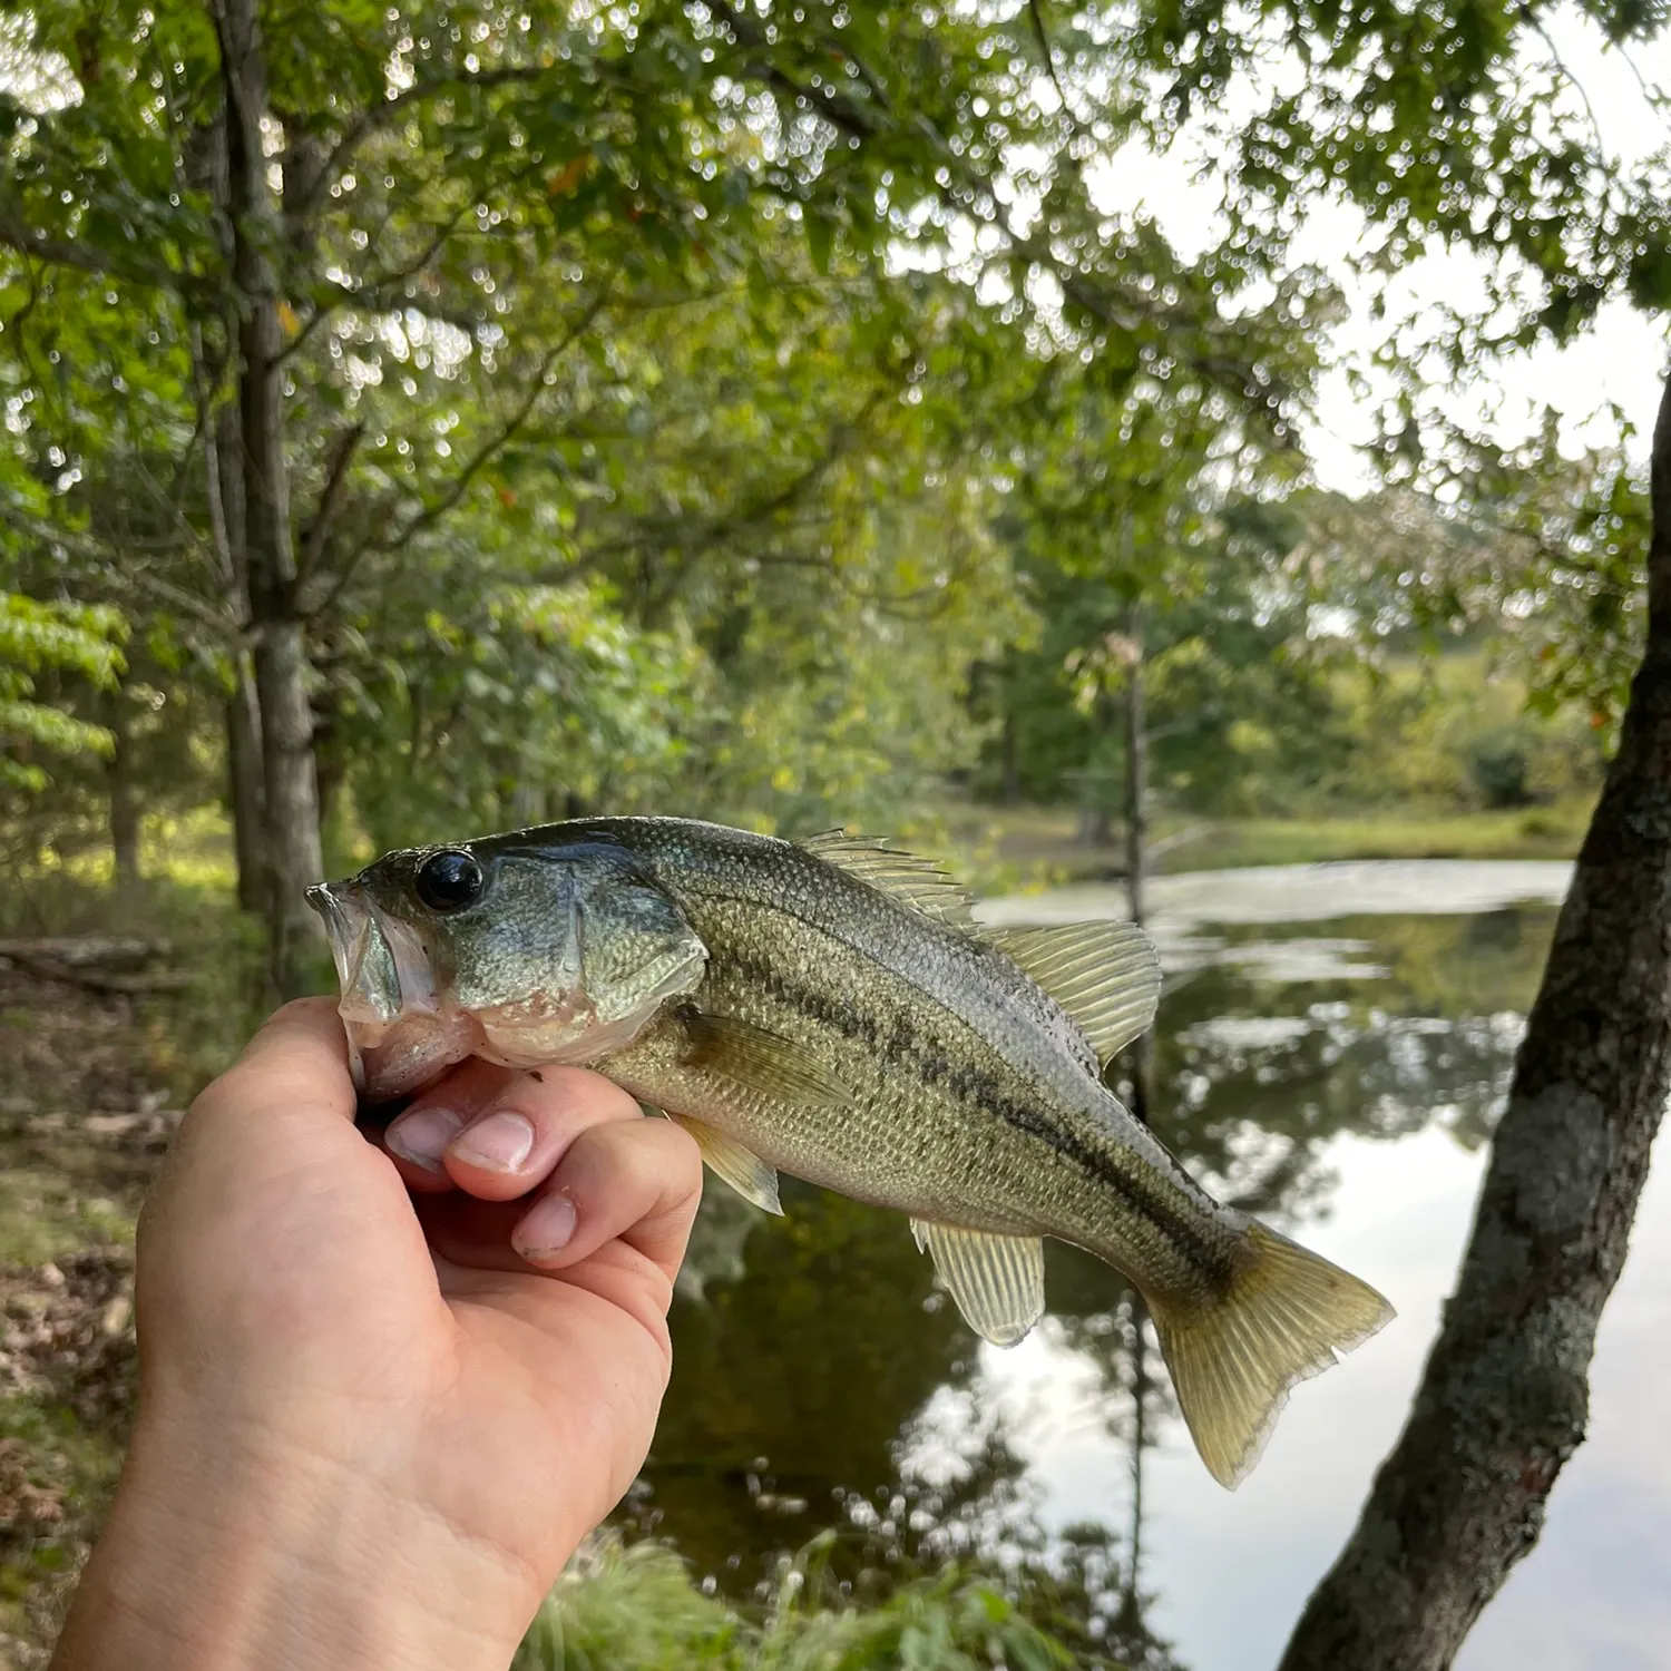
M281 996L307 986L319 931L302 897L324 872L307 643L296 598L289 466L284 453L284 329L272 251L284 227L267 184L266 63L256 0L219 0L216 23L227 110L227 196L237 321L244 561L261 710L262 869L269 968Z

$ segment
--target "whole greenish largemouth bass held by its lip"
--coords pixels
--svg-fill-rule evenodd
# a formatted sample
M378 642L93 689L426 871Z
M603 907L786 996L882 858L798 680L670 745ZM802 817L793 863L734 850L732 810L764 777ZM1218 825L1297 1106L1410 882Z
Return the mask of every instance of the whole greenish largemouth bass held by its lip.
M934 862L597 817L389 852L309 891L363 1095L468 1056L593 1068L769 1213L789 1173L904 1213L969 1327L1044 1313L1043 1238L1143 1297L1211 1475L1390 1320L1372 1287L1216 1201L1103 1083L1148 1029L1131 922L981 926Z

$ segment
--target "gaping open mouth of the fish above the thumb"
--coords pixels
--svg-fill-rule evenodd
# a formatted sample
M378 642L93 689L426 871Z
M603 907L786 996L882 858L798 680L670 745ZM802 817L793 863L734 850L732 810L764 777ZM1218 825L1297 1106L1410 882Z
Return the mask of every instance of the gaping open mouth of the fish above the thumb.
M443 1008L416 932L378 911L358 882L319 882L307 904L324 917L338 1014L356 1088L373 1101L421 1089L475 1053L481 1028Z

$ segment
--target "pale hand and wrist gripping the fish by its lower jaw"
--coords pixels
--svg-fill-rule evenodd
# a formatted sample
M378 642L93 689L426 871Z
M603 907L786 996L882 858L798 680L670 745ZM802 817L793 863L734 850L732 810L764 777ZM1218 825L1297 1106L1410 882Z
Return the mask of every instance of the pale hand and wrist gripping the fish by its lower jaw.
M53 1671L505 1671L643 1462L692 1140L580 1068L468 1063L378 1143L353 1116L324 999L185 1116Z

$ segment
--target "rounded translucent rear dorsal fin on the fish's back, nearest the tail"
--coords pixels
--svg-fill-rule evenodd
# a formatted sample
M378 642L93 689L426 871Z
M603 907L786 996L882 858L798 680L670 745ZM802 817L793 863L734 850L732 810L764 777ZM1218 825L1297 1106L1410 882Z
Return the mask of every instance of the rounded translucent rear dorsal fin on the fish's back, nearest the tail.
M1106 1064L1155 1019L1160 957L1135 922L983 929L1016 968L1056 999Z

